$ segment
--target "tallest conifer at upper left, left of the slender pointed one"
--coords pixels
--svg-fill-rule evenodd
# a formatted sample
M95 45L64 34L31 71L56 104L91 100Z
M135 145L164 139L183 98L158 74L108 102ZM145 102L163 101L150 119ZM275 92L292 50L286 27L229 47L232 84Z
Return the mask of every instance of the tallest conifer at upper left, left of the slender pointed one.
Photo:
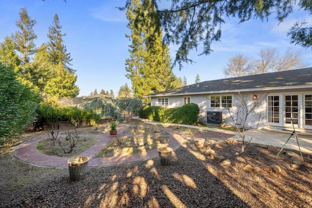
M37 35L34 32L33 27L37 23L35 19L31 19L25 8L20 9L20 20L16 21L16 26L19 28L15 32L14 44L18 52L20 52L20 60L23 65L23 71L25 72L26 64L30 62L30 56L36 53L36 45L34 40Z

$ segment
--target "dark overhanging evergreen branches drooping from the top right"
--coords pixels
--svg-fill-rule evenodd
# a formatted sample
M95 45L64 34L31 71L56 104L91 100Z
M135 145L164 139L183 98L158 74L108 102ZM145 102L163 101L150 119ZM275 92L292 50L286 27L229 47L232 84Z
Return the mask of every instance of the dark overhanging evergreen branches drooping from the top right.
M243 23L251 19L268 21L274 16L271 19L283 22L293 11L312 14L311 0L171 0L171 5L161 6L159 10L158 1L153 2L164 28L165 42L177 45L174 63L178 63L180 69L182 62L194 62L189 53L197 51L199 46L202 49L199 55L209 55L213 51L212 43L221 39L221 27L228 19L235 18ZM133 3L134 0L126 0L125 6L119 9L129 9ZM294 23L287 36L295 45L312 48L312 27L303 19Z

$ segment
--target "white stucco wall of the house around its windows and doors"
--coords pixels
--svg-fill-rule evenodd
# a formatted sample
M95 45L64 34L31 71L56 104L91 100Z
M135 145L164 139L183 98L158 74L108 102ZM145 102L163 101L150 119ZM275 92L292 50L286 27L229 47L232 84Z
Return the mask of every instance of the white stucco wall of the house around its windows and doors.
M179 95L179 96L167 96L168 98L168 106L163 106L167 108L173 108L173 107L181 107L184 105L184 97L191 97L191 102L198 105L200 113L198 114L198 121L202 123L207 122L207 111L209 112L222 112L222 118L223 118L223 124L225 125L233 125L233 120L230 117L230 114L227 109L225 108L211 108L211 96L222 96L222 95L232 95L233 100L233 107L231 108L231 113L235 113L236 107L241 101L239 101L239 98L241 96L247 97L249 102L248 105L253 104L255 101L253 100L253 95L257 95L258 100L262 99L266 95L278 95L279 96L279 122L278 123L268 123L267 118L267 98L264 102L257 108L257 111L264 114L265 118L262 121L259 128L269 125L277 128L290 128L292 129L291 124L285 123L285 96L286 95L298 95L298 125L295 126L295 128L299 128L301 130L312 130L312 126L305 125L305 95L311 95L312 94L312 88L304 88L304 89L278 89L278 90L270 90L270 91L253 91L253 92L247 92L247 93L215 93L215 94L204 94L204 95ZM164 97L161 97L164 98ZM157 99L158 97L152 97L152 105L157 105ZM251 114L247 121L246 121L246 127L247 128L254 128L257 123L257 119L255 119L254 114ZM309 116L309 115L308 115Z

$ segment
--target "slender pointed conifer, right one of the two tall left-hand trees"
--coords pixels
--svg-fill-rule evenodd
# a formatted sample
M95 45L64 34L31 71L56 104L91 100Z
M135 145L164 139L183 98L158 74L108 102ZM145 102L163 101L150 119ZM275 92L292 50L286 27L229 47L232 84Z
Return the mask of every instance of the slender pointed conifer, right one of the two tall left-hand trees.
M61 28L59 16L56 14L52 25L49 27L49 42L47 44L49 60L54 65L61 63L68 72L75 72L75 70L70 67L72 65L70 62L73 59L70 57L70 53L67 53L66 46L63 44L64 41L62 37L66 36L66 34L61 33Z

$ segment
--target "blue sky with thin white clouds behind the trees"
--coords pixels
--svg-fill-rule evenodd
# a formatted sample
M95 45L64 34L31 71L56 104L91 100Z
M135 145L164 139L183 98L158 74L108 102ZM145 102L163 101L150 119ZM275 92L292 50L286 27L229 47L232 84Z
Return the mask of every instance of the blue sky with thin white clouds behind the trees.
M162 4L168 4L166 0ZM47 42L48 28L55 14L59 15L63 38L67 52L73 58L73 69L77 70L76 84L81 95L89 95L95 89L113 90L117 95L120 86L131 81L125 77L125 59L129 57L130 41L125 34L127 19L124 12L115 7L122 6L124 0L0 0L0 42L5 36L17 31L16 20L20 19L20 8L25 7L28 15L36 19L34 31L38 38L36 46ZM296 10L296 9L295 9ZM201 81L225 78L223 68L231 57L242 54L256 57L260 49L277 48L281 54L288 47L300 49L291 45L286 36L294 22L306 20L312 24L312 16L304 11L296 11L284 22L272 16L268 22L253 19L238 24L237 19L226 19L222 25L221 42L214 42L214 52L209 56L197 56L192 52L190 57L196 62L184 64L179 71L173 69L176 76L187 78L188 84L193 84L196 74ZM176 45L170 45L172 58L175 57ZM312 50L302 49L304 61L312 66Z

